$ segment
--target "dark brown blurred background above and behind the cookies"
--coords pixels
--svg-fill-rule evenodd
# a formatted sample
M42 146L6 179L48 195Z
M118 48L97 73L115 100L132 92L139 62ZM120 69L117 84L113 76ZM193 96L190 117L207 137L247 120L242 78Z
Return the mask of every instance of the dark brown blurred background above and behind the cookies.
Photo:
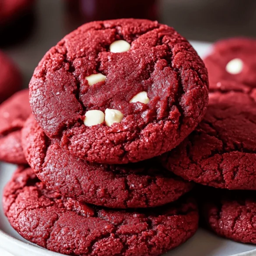
M19 19L0 24L0 49L18 63L26 87L39 60L64 35L85 22L110 18L158 20L203 42L256 37L256 0L35 0Z

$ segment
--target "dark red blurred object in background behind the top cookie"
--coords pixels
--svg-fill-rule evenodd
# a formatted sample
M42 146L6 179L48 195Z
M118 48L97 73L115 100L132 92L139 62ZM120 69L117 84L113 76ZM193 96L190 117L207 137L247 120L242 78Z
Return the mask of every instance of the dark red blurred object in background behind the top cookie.
M157 0L66 0L70 21L81 25L89 21L118 18L158 19Z

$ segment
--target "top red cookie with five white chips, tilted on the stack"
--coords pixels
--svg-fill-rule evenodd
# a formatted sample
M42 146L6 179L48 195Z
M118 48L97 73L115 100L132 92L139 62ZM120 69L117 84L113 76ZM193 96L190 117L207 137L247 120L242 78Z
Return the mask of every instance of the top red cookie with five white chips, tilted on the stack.
M36 121L78 158L124 164L177 146L203 118L207 70L156 21L95 21L49 50L30 82Z

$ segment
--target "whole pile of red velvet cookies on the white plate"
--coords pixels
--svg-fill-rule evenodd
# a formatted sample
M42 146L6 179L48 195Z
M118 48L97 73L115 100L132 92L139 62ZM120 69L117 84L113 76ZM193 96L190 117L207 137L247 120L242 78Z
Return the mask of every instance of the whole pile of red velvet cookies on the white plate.
M173 28L95 21L64 37L35 69L32 115L28 90L0 106L1 138L16 139L0 158L29 164L4 190L11 225L67 255L158 256L196 232L200 183L216 188L198 187L208 225L255 242L255 200L227 192L256 189L252 53L253 40L216 44L207 108L207 69Z

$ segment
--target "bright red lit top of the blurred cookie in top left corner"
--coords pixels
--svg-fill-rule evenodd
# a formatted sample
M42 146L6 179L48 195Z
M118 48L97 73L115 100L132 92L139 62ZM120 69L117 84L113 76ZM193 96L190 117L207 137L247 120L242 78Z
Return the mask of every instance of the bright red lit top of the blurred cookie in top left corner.
M0 25L15 20L27 10L31 9L34 0L1 0Z

